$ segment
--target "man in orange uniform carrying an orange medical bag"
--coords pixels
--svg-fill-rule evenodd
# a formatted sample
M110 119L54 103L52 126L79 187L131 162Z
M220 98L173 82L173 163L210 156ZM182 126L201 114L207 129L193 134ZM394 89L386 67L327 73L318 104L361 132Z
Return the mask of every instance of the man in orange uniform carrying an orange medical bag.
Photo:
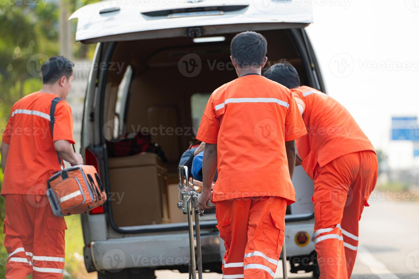
M65 101L55 110L51 135L49 109L55 97L65 99L72 83L72 63L55 56L41 68L43 87L18 100L3 133L1 161L5 197L4 244L8 252L6 278L62 278L64 218L52 213L47 180L60 170L57 152L72 165L83 164L71 146L73 123Z

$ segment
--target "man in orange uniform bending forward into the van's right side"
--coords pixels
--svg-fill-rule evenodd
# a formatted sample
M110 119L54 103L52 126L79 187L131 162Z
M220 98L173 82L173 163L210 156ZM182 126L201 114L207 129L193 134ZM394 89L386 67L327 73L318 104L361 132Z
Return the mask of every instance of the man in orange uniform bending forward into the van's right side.
M375 187L375 150L339 102L308 86L283 60L265 77L291 89L308 134L297 139L301 164L314 180L314 241L320 278L351 277L358 248L358 222Z

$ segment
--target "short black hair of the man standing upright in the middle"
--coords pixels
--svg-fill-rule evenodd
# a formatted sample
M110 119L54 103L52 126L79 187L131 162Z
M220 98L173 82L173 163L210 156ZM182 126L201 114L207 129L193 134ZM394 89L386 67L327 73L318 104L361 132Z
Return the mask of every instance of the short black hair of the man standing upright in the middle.
M259 33L246 31L238 33L231 40L231 56L239 67L261 66L266 56L268 43L266 38Z

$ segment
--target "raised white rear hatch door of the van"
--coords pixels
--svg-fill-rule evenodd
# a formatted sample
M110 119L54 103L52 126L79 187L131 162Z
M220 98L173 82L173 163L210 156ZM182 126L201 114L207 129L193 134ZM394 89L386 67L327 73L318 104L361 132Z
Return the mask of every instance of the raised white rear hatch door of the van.
M313 22L311 5L292 0L106 0L78 9L73 18L78 18L76 41L83 43L302 28Z

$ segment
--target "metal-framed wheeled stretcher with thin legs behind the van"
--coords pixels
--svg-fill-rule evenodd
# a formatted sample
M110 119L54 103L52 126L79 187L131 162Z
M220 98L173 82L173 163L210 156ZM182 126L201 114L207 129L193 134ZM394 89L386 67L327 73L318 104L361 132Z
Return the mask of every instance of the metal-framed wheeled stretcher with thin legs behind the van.
M202 251L201 251L201 230L199 228L199 217L204 215L204 210L199 210L198 207L198 196L202 191L202 182L197 181L188 174L187 166L179 166L179 192L180 201L178 202L178 208L182 210L188 216L188 228L189 228L189 248L190 248L190 261L189 261L189 279L197 278L202 279ZM214 185L213 185L214 186ZM215 207L215 204L208 201L207 206ZM192 217L194 215L194 217ZM197 257L195 258L195 244L194 244L194 224L197 238ZM282 272L283 278L287 279L287 255L285 251L285 238L282 244Z

